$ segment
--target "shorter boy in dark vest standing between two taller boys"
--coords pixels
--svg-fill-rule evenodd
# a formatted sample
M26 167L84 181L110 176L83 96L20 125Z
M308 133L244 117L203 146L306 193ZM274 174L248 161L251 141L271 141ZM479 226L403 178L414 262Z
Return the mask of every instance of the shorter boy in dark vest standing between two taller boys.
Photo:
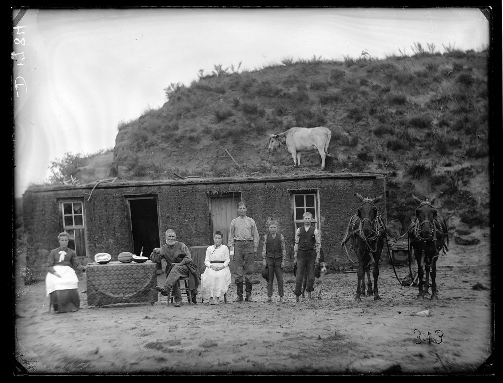
M283 302L283 268L285 267L286 249L285 238L278 231L278 222L272 220L269 222L269 233L264 235L264 248L262 249L262 264L267 267L267 301L272 302L273 280L276 274L278 283L278 295L280 302Z

